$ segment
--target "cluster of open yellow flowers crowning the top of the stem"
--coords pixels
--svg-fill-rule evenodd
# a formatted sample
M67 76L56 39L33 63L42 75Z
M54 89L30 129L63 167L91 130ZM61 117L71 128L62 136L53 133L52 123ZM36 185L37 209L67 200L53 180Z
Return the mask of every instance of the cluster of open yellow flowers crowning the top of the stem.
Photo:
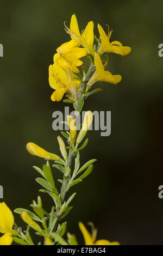
M82 33L79 30L75 14L71 17L70 28L65 25L65 30L70 34L71 40L57 48L57 53L54 54L53 58L54 63L49 66L49 84L55 90L51 96L52 101L60 101L64 94L73 103L77 101L80 84L82 81L86 81L85 76L82 77L78 68L83 65L81 58L85 56L91 59L90 71L95 71L91 77L87 76L86 93L96 81L105 81L111 84L117 84L121 81L121 75L112 75L111 72L104 70L107 61L103 65L101 56L104 52L125 56L130 53L131 48L123 46L119 41L110 42L112 31L108 31L106 34L101 25L98 24L97 27L99 39L94 35L93 21L87 23ZM94 39L96 39L97 45L94 43ZM85 71L84 65L83 69Z

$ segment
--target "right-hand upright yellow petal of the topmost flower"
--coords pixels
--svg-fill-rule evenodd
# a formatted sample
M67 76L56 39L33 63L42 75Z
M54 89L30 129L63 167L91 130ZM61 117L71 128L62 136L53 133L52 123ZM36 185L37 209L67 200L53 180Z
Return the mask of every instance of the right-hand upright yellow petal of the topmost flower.
M94 23L90 21L87 23L86 28L82 34L83 45L88 46L89 48L93 48L93 41L94 41L94 33L93 33Z

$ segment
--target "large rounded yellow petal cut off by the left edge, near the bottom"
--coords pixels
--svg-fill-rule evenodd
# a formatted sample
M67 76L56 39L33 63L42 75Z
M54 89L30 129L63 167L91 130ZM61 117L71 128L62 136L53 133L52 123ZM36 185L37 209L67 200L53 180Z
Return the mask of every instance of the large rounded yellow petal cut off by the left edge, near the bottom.
M10 233L14 225L14 216L8 206L2 202L0 203L0 232Z

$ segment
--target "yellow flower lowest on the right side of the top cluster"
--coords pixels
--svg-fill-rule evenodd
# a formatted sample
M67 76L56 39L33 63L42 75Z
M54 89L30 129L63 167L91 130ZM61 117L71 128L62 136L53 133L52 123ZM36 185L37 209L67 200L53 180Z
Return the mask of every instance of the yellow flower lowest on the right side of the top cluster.
M87 83L87 88L96 81L105 81L112 84L117 84L121 81L122 77L120 75L112 75L109 71L104 70L102 60L98 53L95 53L95 66L96 71Z

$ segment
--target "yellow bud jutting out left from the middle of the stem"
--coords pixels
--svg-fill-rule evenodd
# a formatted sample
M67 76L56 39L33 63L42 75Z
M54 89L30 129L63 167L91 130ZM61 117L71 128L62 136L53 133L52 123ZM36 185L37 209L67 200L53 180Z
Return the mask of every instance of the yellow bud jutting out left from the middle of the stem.
M26 148L28 152L34 156L39 156L47 160L61 161L59 156L49 153L48 151L40 148L33 142L28 142Z

